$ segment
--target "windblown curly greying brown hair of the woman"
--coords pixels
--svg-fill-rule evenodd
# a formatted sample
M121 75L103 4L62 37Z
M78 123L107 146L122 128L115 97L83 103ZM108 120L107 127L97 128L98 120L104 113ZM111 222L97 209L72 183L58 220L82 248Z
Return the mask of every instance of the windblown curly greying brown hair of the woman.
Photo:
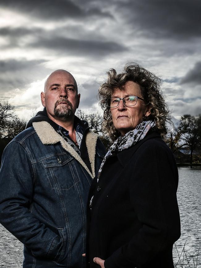
M137 63L131 62L124 66L122 73L117 73L115 69L108 72L107 81L99 87L100 106L104 111L103 132L114 141L121 134L114 128L110 108L106 104L106 99L111 97L115 89L122 89L127 81L138 83L142 92L145 104L150 108L151 114L145 120L154 120L156 129L161 136L166 131L165 121L170 119L169 108L165 103L164 96L160 88L160 79Z

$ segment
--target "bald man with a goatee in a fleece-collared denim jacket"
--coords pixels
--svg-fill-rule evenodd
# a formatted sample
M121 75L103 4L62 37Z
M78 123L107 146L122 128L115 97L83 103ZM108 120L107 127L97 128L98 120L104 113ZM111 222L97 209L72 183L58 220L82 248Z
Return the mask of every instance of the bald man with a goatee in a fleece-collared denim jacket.
M0 170L0 222L24 244L25 268L85 267L86 206L105 149L75 116L74 77L56 70L45 107L7 145Z

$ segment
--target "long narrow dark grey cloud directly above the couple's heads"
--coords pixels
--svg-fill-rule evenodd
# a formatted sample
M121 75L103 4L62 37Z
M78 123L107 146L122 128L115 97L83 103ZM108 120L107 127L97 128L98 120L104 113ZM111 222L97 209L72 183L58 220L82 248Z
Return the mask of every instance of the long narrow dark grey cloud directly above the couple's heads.
M52 49L54 52L63 52L71 55L88 55L92 57L103 57L110 53L123 52L127 48L115 42L98 41L98 40L77 40L65 37L53 38L41 37L29 44L32 48Z

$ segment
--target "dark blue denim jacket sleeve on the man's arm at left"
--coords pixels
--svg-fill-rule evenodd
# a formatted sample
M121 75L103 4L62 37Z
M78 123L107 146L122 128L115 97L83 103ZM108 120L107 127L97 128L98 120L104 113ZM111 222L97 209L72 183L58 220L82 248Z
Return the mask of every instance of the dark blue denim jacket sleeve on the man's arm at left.
M34 171L22 144L12 141L2 155L0 169L0 222L31 249L35 257L57 260L62 238L30 212L34 190Z

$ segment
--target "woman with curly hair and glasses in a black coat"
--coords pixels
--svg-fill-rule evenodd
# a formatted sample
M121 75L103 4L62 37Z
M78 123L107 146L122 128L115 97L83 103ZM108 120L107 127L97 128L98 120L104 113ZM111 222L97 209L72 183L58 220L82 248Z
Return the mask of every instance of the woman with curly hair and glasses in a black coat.
M159 79L137 64L111 69L99 96L115 142L89 194L89 266L173 268L178 171L161 138L169 111Z

